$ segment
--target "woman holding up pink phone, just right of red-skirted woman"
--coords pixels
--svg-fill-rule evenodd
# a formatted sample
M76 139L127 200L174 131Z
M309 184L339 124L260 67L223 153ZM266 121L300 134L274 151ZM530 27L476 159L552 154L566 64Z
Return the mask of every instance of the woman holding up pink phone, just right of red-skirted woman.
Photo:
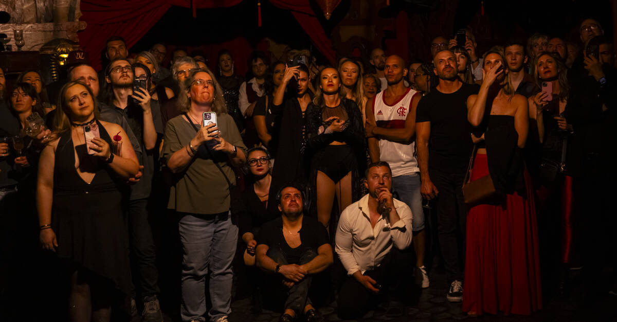
M538 87L543 89L528 99L529 117L537 125L534 139L539 142L534 153L539 168L536 175L538 208L542 213L538 226L540 236L547 237L541 243L543 265L549 265L543 271L555 271L561 266L561 276L545 276L545 284L549 290L562 289L572 260L573 234L576 233L572 223L572 200L576 198L573 196L576 190L573 176L576 175L578 153L573 153L571 147L576 140L581 112L576 112L574 106L568 104L568 68L560 57L540 52L534 64L534 78ZM565 171L561 171L562 165Z

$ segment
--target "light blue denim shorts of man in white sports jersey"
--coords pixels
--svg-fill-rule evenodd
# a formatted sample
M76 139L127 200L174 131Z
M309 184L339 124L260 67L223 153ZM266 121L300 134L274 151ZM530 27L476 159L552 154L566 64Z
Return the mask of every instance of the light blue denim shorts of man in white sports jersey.
M413 175L395 176L392 178L392 191L399 194L399 200L411 208L413 220L412 230L424 229L424 210L422 209L422 195L420 194L420 173Z

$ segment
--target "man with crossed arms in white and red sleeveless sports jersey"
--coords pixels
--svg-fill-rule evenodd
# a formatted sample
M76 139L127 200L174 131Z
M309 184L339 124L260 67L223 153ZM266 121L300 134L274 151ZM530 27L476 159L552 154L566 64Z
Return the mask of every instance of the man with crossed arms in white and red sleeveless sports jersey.
M414 142L416 106L420 94L405 86L407 72L401 57L387 57L384 67L387 88L366 102L365 130L371 161L389 163L392 168L392 188L412 210L416 280L426 288L429 287L424 268L426 234L420 194L420 168L415 157Z

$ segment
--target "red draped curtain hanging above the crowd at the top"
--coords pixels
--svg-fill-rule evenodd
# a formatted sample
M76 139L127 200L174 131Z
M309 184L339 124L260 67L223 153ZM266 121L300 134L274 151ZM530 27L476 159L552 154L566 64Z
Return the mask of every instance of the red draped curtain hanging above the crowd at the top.
M212 9L231 7L242 0L81 0L81 20L88 23L79 33L80 44L88 52L94 68L101 68L101 52L107 38L121 36L131 47L143 37L171 6ZM309 0L270 0L292 11L294 17L330 62L335 54L331 42L309 6ZM268 23L268 22L265 22ZM272 23L272 22L270 22Z

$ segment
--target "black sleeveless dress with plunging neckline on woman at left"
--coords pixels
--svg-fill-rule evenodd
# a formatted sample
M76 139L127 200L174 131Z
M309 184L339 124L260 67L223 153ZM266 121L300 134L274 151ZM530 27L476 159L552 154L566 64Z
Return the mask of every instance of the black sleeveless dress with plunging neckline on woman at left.
M101 139L111 146L109 134L101 123L96 123ZM85 144L77 146L77 151L87 155ZM56 149L51 221L58 242L56 252L60 258L109 282L122 293L118 294L118 301L125 308L131 291L128 236L122 210L126 188L106 163L93 158L95 175L91 183L86 183L75 169L71 132L62 134Z

